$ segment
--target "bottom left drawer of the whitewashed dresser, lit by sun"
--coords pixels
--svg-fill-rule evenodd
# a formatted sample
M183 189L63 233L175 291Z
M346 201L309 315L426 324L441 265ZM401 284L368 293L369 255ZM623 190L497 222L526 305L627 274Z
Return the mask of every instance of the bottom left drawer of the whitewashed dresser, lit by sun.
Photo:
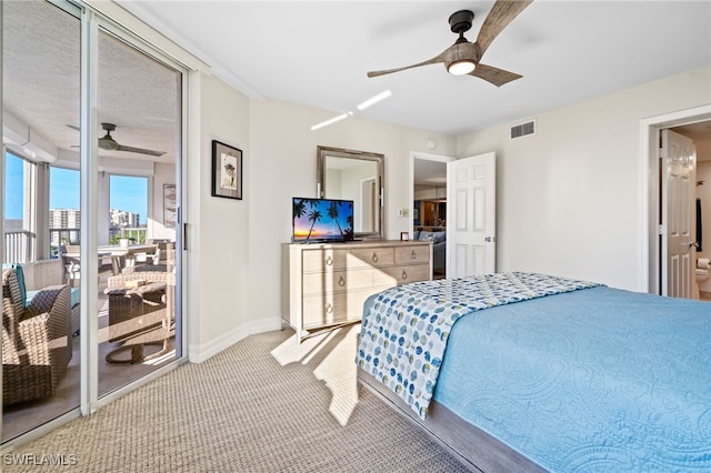
M303 328L312 329L358 321L363 315L363 303L372 290L304 295L302 301Z

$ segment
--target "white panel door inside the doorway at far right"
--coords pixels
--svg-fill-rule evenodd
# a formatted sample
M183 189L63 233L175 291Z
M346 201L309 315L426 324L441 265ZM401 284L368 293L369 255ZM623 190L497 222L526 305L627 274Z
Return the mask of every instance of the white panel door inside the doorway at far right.
M693 142L662 130L662 281L663 295L691 298L695 283L694 179Z

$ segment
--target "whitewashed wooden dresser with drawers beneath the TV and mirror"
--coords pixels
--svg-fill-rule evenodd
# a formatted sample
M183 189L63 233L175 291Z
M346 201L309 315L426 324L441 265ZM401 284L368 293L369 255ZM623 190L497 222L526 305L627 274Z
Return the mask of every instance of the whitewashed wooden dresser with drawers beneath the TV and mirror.
M397 284L432 279L432 243L377 240L282 245L282 318L299 341L359 322L365 299Z

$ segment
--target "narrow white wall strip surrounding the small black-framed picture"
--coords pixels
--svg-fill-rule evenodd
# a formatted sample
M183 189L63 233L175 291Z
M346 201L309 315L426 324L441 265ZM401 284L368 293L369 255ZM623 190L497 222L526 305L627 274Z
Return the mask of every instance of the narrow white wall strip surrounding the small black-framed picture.
M248 222L252 182L249 100L210 76L191 76L187 306L189 355L202 361L250 333ZM243 152L242 200L211 197L212 140Z

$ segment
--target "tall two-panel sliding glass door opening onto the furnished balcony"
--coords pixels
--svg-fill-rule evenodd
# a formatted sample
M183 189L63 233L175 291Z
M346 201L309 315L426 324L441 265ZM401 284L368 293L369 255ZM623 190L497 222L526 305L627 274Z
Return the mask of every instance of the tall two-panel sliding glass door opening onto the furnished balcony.
M27 290L18 314L3 301L6 444L89 414L183 356L186 78L80 2L1 8L3 298L22 280ZM22 321L48 288L41 340Z

